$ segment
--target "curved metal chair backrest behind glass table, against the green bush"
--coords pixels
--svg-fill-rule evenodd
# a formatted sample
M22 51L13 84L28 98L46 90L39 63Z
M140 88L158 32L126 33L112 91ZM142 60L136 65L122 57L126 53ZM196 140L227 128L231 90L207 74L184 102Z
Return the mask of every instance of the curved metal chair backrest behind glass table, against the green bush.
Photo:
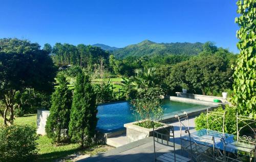
M207 131L210 129L210 124L216 124L217 122L221 126L222 133L224 134L225 114L226 114L226 111L224 111L224 113L219 113L219 112L212 112L207 109L207 113L206 113ZM211 120L209 121L209 119Z

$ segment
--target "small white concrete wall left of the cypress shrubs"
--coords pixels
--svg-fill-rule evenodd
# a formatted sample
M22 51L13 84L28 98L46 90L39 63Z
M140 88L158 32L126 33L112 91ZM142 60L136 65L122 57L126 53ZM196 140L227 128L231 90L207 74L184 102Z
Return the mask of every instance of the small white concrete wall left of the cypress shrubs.
M41 134L41 135L46 134L45 126L46 126L47 117L49 115L50 115L49 110L45 110L45 109L37 110L37 130L36 130L37 134Z

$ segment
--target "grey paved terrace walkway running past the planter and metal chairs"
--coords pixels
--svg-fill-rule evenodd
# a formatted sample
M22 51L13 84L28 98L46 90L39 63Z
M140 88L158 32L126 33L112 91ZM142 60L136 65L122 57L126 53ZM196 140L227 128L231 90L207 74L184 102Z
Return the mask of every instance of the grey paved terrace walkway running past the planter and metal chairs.
M180 128L179 123L174 122L170 125L175 127L175 149L176 153L180 154ZM190 132L194 132L195 130L195 118L189 119L189 127ZM184 130L182 134L185 135ZM182 136L183 136L182 135ZM173 151L172 147L164 146L156 143L156 156L160 156L166 152ZM120 147L117 147L113 150L101 153L96 156L92 156L89 158L81 159L82 161L97 161L97 162L125 162L125 161L138 161L138 162L146 162L146 161L154 161L154 146L153 146L153 137L148 137L146 139L142 139L139 141L132 142L130 144L126 144Z

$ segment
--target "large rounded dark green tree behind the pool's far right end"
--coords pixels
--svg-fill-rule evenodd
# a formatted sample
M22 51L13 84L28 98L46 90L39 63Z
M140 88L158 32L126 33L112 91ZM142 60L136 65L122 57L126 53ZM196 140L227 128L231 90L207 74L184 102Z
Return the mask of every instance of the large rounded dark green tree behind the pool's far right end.
M215 53L211 53L213 51ZM165 83L171 90L180 87L203 95L220 94L232 87L230 64L235 57L222 48L210 45L198 57L172 66Z

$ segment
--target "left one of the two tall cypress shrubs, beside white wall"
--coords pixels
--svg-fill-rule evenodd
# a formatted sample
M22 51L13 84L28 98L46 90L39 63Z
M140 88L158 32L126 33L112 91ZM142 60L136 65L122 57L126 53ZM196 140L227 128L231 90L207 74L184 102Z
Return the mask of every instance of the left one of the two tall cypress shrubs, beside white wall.
M52 106L46 122L46 133L54 142L67 142L69 138L70 111L72 106L72 91L63 74L57 76L58 86L51 96Z

